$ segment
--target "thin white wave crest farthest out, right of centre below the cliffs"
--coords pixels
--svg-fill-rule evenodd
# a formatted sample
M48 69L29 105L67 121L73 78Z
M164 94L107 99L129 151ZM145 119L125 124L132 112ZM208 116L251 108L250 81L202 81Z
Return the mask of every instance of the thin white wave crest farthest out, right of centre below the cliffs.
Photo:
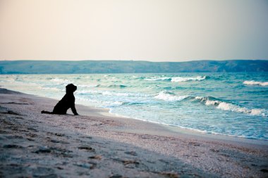
M188 81L201 81L207 79L207 76L197 77L150 77L145 78L147 81L168 81L168 82L188 82Z

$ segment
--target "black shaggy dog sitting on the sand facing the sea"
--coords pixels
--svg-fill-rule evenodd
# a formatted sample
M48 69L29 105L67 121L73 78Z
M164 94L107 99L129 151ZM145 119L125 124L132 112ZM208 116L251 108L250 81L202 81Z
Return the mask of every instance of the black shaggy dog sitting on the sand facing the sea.
M66 86L66 94L63 96L61 101L56 104L54 110L52 112L42 110L43 114L56 114L56 115L66 115L67 110L71 108L74 115L78 115L75 109L75 96L73 96L73 92L77 89L77 87L73 84L68 84Z

